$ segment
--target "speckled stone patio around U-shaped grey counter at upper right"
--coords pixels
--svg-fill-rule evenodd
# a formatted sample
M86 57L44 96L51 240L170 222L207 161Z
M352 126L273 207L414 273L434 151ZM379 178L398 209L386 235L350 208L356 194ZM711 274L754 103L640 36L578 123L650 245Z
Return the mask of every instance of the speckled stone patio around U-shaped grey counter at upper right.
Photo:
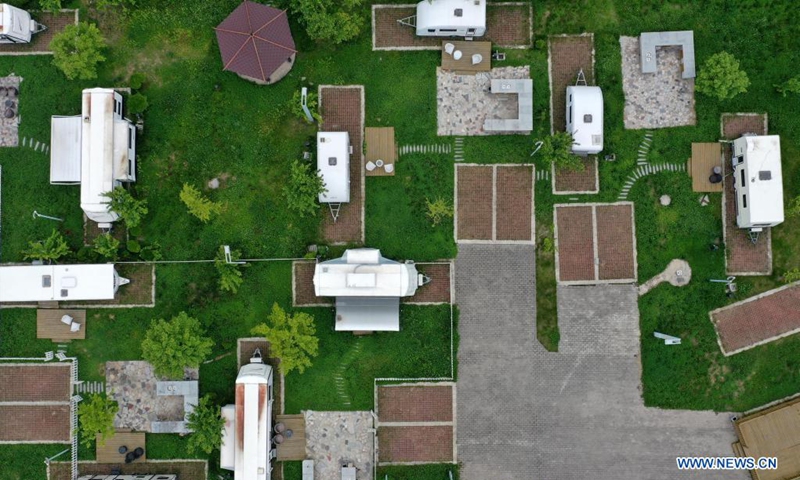
M695 125L694 79L681 78L680 47L656 49L658 72L642 73L639 38L620 37L625 128Z

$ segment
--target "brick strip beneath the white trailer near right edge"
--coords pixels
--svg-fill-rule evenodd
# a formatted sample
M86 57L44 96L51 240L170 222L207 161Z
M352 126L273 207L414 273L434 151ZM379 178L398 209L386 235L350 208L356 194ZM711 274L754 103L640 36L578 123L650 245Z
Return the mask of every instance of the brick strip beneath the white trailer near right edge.
M743 133L766 135L763 115L730 115L722 117L723 136L728 139L739 138ZM725 158L730 159L730 148L725 147ZM723 162L725 186L725 249L727 255L727 273L740 275L756 273L769 275L772 273L772 230L764 229L758 242L753 244L746 229L736 226L736 197L733 182L730 181L730 162Z

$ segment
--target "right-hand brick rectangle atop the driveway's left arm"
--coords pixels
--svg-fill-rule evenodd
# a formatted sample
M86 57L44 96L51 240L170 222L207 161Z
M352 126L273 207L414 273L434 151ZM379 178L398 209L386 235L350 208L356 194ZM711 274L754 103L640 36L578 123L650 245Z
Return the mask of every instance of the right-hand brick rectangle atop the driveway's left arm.
M497 167L497 240L530 240L533 168Z

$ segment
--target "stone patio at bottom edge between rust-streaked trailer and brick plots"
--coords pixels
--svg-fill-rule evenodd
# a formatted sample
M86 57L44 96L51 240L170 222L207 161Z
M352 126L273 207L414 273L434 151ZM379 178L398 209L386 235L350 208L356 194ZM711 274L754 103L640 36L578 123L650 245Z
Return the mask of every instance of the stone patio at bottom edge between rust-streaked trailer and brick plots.
M372 478L374 427L370 412L305 411L306 457L314 459L315 480L341 479L353 464L358 480Z

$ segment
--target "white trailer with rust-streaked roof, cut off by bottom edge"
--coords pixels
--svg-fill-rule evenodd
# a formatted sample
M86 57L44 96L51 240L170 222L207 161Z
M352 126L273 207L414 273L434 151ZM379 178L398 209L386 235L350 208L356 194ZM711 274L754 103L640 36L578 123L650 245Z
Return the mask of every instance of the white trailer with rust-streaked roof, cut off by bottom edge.
M236 377L236 404L222 407L220 467L235 480L270 480L272 443L272 367L260 352L242 366Z

